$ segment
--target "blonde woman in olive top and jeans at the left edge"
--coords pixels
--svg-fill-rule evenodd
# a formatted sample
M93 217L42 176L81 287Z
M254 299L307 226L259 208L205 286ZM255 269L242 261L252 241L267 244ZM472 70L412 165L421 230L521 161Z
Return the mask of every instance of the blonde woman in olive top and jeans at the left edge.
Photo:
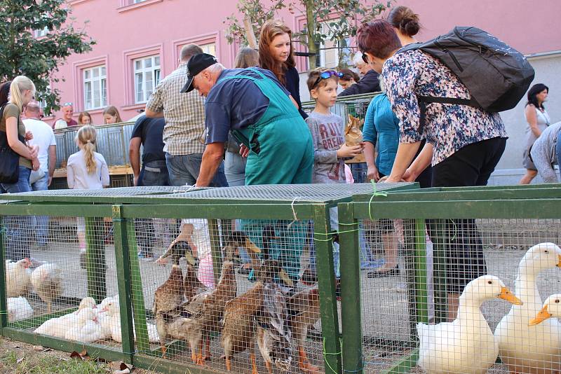
M31 132L25 132L25 125L21 119L21 113L35 95L35 85L26 76L17 76L11 82L0 86L0 132L6 137L6 143L12 151L20 155L18 175L11 178L5 176L4 181L12 183L0 183L1 193L20 193L31 191L29 186L29 175L32 169L39 169L39 147L27 146L26 141L33 139ZM19 261L29 258L29 244L31 237L29 228L32 223L29 217L4 217L4 224L8 228L6 240L6 258Z

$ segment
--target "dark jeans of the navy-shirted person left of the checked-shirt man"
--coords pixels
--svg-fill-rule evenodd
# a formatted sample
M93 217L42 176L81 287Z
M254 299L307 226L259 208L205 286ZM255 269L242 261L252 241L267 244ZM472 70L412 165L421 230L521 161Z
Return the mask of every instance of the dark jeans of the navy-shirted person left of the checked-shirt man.
M170 178L165 160L145 162L140 169L138 186L169 186ZM152 219L135 219L137 245L144 257L154 256L152 248L156 242Z

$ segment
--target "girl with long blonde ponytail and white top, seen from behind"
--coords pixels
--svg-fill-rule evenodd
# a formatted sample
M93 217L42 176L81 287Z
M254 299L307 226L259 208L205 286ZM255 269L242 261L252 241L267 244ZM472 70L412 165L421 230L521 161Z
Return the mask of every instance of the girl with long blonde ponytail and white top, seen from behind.
M86 125L80 127L76 134L76 144L80 151L73 153L67 162L68 188L98 189L109 186L109 169L107 162L100 153L95 152L95 128ZM80 245L81 263L86 253L86 223L78 217L78 241ZM85 258L84 258L85 260Z

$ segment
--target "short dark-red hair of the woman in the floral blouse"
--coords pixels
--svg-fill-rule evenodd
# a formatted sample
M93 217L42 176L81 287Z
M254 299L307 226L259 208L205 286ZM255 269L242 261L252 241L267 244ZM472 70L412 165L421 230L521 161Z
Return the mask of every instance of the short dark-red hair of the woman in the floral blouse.
M358 49L378 58L386 59L401 48L396 30L386 20L373 20L363 23L356 34Z

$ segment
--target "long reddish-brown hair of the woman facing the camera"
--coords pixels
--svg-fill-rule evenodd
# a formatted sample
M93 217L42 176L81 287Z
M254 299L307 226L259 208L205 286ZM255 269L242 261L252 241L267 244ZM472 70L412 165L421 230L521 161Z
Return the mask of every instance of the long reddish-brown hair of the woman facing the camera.
M270 47L275 36L282 34L288 34L290 37L290 53L288 53L288 59L280 63L271 55ZM272 71L278 81L284 85L286 83L286 71L296 66L293 53L294 46L292 46L292 30L290 30L290 27L281 20L265 22L259 33L259 66Z

